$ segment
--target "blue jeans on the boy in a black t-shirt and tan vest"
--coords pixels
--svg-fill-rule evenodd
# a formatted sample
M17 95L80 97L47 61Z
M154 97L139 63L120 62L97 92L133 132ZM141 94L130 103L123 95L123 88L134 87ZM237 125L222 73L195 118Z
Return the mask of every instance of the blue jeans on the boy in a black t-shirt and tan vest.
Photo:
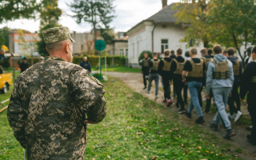
M197 113L198 113L198 117L202 117L202 110L198 100L198 91L202 86L202 82L197 82L197 81L187 82L187 86L190 90L190 107L189 107L188 113L191 114L192 110L195 107L195 110L197 110Z

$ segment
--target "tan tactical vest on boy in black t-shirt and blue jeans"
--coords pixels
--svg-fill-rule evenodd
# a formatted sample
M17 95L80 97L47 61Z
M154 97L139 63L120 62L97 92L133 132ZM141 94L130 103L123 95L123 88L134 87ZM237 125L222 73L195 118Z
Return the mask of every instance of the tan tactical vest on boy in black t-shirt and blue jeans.
M189 60L192 71L189 71L187 77L190 78L202 78L202 71L203 71L203 60L200 59L200 63L194 63L193 59Z

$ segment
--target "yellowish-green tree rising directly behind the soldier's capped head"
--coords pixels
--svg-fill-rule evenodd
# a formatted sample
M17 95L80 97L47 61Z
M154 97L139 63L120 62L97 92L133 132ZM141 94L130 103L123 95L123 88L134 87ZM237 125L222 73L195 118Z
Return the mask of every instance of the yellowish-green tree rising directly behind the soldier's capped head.
M42 39L38 42L38 53L42 56L48 56L46 50L46 42L43 41L42 30L46 30L52 27L60 26L58 24L59 17L62 15L62 10L58 8L58 0L44 0L42 9L40 10L40 30L39 36Z

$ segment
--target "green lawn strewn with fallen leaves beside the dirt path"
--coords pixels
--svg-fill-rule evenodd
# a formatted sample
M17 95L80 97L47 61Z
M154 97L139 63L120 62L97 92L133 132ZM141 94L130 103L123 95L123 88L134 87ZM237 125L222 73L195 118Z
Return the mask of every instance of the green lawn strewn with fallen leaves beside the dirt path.
M85 159L236 158L228 152L230 144L201 126L182 124L178 114L135 93L122 81L109 78L103 84L108 114L103 122L88 126ZM23 149L13 136L6 111L0 114L0 128L0 159L21 159Z

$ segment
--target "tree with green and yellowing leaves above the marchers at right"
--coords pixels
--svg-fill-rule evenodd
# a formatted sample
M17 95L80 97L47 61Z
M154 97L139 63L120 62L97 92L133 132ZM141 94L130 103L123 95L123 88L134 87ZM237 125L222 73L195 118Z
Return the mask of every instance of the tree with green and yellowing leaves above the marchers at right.
M221 4L221 5L220 5ZM253 44L256 35L256 6L253 0L211 0L208 21L212 26L222 28L216 37L217 42L225 43L226 39L238 50L239 57L244 60L246 55L241 53L244 43ZM226 37L226 38L223 38Z

